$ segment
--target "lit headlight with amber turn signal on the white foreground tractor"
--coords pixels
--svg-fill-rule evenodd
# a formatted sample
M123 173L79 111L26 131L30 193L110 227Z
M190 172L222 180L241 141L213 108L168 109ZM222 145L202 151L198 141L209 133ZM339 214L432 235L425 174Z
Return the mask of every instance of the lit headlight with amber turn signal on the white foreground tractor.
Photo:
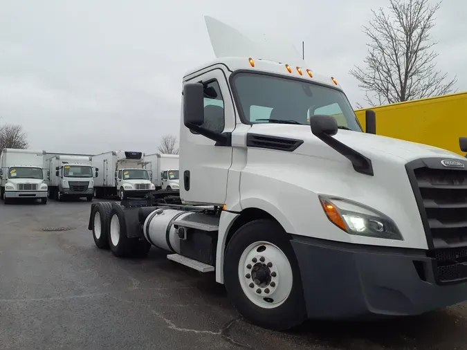
M396 223L381 212L344 199L320 196L320 201L329 221L348 234L404 240Z

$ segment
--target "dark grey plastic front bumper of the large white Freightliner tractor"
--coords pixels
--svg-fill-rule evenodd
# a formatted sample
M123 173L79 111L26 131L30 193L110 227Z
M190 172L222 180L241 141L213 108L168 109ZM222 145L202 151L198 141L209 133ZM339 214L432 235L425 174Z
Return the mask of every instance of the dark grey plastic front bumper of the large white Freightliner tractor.
M467 300L467 282L439 285L424 250L293 236L309 318L419 315Z

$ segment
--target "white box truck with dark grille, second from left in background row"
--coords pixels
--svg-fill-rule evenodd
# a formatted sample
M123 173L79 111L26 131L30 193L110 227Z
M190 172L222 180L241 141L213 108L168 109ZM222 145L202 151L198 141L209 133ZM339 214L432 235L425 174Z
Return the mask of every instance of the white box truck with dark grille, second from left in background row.
M94 177L99 169L91 165L91 156L60 154L46 160L49 183L48 198L62 201L64 198L93 200Z

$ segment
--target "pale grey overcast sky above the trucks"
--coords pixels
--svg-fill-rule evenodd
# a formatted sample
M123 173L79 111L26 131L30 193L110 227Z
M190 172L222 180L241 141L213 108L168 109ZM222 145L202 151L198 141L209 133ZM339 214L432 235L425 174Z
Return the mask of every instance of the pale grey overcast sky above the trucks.
M355 106L348 73L365 57L371 8L385 0L0 0L0 123L30 148L152 153L178 136L183 73L214 59L203 15L248 33L282 33ZM467 1L444 1L432 35L438 67L467 90Z

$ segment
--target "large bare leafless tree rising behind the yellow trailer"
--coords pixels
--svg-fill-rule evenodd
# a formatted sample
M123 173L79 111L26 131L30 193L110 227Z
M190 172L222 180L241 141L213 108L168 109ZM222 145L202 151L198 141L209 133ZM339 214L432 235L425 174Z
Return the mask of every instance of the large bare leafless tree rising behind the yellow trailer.
M457 78L436 68L438 54L432 47L430 30L441 2L429 0L389 0L389 14L374 11L374 19L364 26L369 37L366 67L355 66L350 73L365 91L372 106L427 98L452 92Z

